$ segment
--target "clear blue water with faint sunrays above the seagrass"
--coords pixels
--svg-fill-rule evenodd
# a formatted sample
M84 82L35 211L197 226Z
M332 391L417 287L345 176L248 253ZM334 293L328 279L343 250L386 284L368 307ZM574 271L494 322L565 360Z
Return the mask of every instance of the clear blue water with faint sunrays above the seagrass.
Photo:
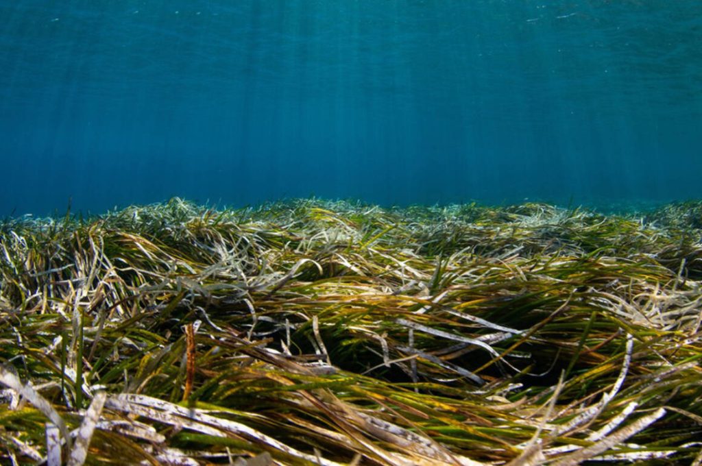
M702 197L699 0L0 0L0 215Z

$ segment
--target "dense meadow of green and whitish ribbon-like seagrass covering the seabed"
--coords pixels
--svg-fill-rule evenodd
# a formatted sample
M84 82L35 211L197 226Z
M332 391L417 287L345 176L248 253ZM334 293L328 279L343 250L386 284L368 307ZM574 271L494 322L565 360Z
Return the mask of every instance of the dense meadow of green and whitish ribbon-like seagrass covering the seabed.
M702 204L0 225L0 458L699 465Z

